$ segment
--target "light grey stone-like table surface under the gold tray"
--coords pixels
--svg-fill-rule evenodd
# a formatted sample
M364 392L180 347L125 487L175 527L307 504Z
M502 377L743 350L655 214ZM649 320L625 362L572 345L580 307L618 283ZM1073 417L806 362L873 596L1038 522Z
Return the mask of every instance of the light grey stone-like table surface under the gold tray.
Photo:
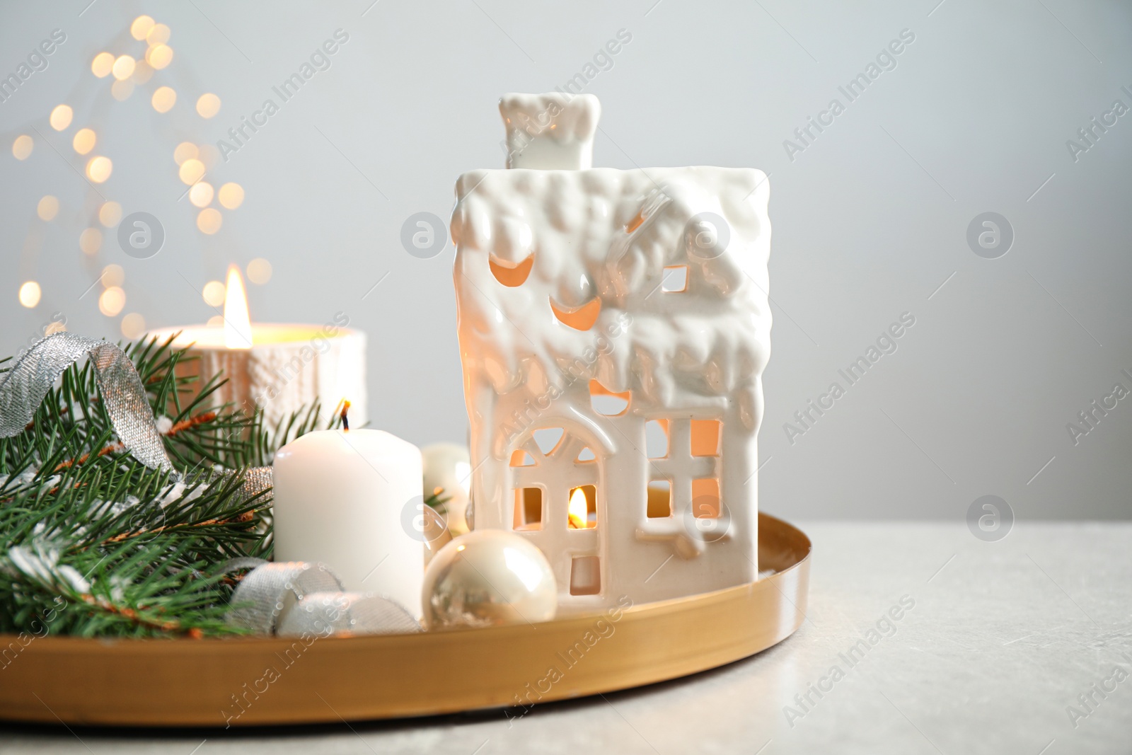
M1132 523L1020 521L1000 542L963 522L800 526L814 541L807 621L713 671L515 721L489 711L254 731L5 727L0 753L1132 753ZM904 595L915 607L849 667L841 655ZM1127 677L1101 698L1092 685L1117 664ZM809 693L804 711L795 695L833 666L844 677L820 700ZM1089 692L1091 711L1078 702ZM804 715L788 721L787 705ZM1071 705L1088 715L1071 721Z

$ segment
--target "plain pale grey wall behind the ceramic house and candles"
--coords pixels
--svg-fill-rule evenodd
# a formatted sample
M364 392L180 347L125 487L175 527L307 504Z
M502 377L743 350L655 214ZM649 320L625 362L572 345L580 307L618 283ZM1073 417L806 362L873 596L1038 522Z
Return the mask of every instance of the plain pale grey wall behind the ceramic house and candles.
M120 337L120 318L84 295L106 264L126 271L123 314L156 327L204 321L199 288L265 257L275 273L251 286L255 319L346 311L370 335L374 424L418 444L461 440L453 250L414 258L401 226L418 212L447 218L456 175L501 165L499 94L582 74L604 109L595 164L771 174L762 508L961 521L993 494L1020 523L1132 515L1132 400L1109 398L1092 429L1079 419L1115 384L1132 391L1132 114L1114 111L1132 106L1127 3L87 2L0 9L0 75L53 29L67 35L0 103L6 354L52 312ZM139 55L127 29L142 12L172 28L173 63L115 102L89 63L103 50ZM329 69L211 169L247 199L217 234L199 233L173 147L225 138L340 28L349 41ZM632 40L595 61L620 29ZM883 54L902 33L900 53ZM839 87L863 72L875 79L850 100ZM164 115L149 105L162 84L179 95ZM192 109L205 92L223 103L211 120ZM832 100L840 112L823 114ZM63 134L48 126L59 103L76 113ZM826 125L803 140L795 129L809 118ZM161 220L157 256L132 259L109 234L96 257L79 251L101 203L76 172L82 126L114 161L100 190ZM23 162L9 149L20 134L35 138ZM61 205L50 223L35 212L48 194ZM986 212L1013 234L993 259L968 242ZM43 298L26 309L17 290L33 278ZM850 385L839 370L904 312L915 325L895 351ZM795 412L835 381L844 395L799 423ZM1088 434L1074 438L1071 422Z

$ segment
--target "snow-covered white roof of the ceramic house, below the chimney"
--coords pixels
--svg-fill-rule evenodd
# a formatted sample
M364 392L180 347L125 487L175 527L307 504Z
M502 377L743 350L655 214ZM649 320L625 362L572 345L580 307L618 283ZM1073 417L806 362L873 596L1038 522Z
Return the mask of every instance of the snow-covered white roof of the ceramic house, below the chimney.
M724 395L762 372L771 327L762 171L481 170L460 178L456 196L471 384L484 375L500 394L528 383L542 393L573 374L674 405L680 393ZM528 266L522 283L505 285ZM664 268L678 266L686 290L664 290ZM561 321L592 315L594 299L592 327Z

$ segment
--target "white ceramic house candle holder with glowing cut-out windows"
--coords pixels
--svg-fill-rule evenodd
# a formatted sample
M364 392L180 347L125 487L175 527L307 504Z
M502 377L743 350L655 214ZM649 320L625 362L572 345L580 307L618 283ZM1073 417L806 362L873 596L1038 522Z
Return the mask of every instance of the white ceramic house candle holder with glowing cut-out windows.
M765 174L589 169L591 95L500 112L522 168L452 220L475 529L530 538L560 612L754 582Z

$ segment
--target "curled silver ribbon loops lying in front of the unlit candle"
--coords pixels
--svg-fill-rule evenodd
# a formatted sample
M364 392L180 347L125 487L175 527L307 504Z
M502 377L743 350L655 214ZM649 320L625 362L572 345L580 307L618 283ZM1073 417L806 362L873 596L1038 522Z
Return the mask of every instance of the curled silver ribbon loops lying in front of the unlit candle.
M420 632L400 603L370 593L342 592L325 564L238 558L225 572L251 568L232 594L228 623L258 634L404 634Z

